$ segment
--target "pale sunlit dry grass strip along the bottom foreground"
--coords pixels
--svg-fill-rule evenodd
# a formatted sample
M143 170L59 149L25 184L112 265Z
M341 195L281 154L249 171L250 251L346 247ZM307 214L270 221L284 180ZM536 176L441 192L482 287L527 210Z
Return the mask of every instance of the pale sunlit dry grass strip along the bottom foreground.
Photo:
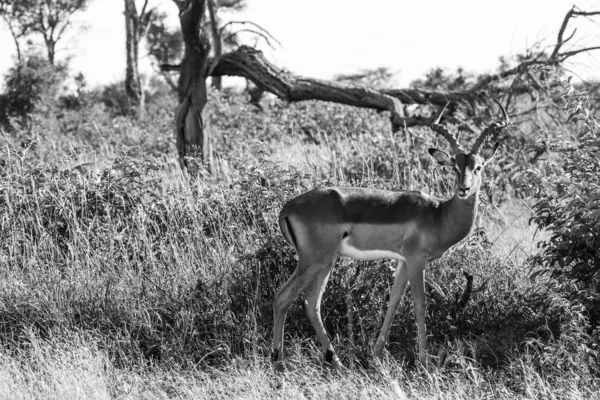
M515 387L472 367L331 371L292 355L294 369L274 373L264 360L237 359L220 370L119 369L89 340L30 338L26 351L0 354L0 399L597 399L577 377L549 382L526 364Z

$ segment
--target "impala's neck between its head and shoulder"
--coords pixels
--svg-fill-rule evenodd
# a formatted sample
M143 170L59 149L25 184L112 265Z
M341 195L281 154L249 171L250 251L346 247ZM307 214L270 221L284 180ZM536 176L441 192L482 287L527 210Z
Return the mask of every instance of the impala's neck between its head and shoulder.
M460 199L455 193L453 198L442 203L441 237L448 248L469 234L477 217L478 203L479 186L466 199Z

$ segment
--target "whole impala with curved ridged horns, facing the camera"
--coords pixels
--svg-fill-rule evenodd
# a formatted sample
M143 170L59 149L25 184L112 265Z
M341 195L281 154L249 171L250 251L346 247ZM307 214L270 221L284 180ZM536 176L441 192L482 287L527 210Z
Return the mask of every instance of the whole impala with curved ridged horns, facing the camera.
M358 260L397 259L398 268L390 293L383 326L375 343L375 357L381 359L398 303L410 283L417 324L418 355L425 362L425 265L469 234L477 214L483 167L494 156L498 144L487 154L480 153L485 139L508 125L508 115L484 129L470 152L458 142L458 135L440 125L445 110L431 125L444 137L453 157L429 149L438 164L453 168L457 184L454 197L441 200L419 191L329 187L306 192L289 201L279 215L285 239L296 249L298 266L273 300L273 362L283 369L285 316L294 299L306 289L304 304L325 353L325 361L340 366L321 321L321 297L338 256ZM447 105L446 105L447 106Z

